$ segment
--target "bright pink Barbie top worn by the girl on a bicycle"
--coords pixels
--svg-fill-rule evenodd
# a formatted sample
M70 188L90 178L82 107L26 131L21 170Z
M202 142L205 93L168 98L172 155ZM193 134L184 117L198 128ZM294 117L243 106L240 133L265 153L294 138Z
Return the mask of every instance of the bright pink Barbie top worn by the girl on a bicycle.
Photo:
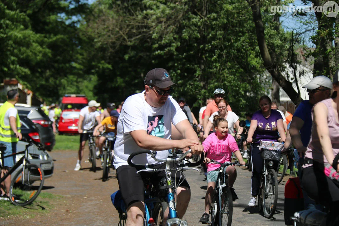
M216 132L211 133L206 140L202 142L202 146L204 146L204 152L207 158L220 163L231 162L232 152L239 150L234 137L228 133L222 140L218 139ZM208 172L218 169L220 165L206 163L206 167Z

